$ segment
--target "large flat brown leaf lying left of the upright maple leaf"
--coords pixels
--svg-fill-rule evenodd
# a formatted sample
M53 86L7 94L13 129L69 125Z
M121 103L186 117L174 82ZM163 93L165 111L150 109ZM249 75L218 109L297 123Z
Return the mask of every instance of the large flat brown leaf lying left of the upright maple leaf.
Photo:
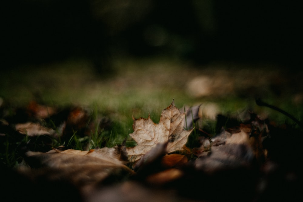
M121 146L90 151L53 149L46 153L27 152L26 155L25 161L32 170L26 170L25 173L31 178L68 181L82 191L102 183L112 175L123 176L121 173L133 172L125 165L126 156Z

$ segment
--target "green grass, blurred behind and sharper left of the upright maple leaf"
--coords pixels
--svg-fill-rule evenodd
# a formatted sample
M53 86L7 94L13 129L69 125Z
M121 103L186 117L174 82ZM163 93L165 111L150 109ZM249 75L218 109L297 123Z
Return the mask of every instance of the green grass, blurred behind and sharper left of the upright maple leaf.
M17 134L12 129L0 131L4 134L0 136L2 164L14 167L21 163L23 147L28 142L33 144L32 149L36 151L60 145L89 150L96 147L113 147L125 140L127 146L133 146L135 142L128 135L133 132L133 118L147 118L150 114L153 122L158 123L162 110L168 107L173 99L179 109L184 105L213 102L224 115L237 115L239 111L249 109L257 114L265 114L277 124L293 123L279 112L257 106L252 96L191 96L186 89L186 82L196 75L203 74L204 70L191 68L186 62L168 61L163 58L120 59L115 61L113 72L110 77L102 77L96 75L87 61L70 60L35 67L23 66L0 75L2 119L13 116L15 108L25 107L29 101L35 100L47 106L76 105L87 108L91 115L89 121L95 123L94 130L88 136L74 131L67 140L50 137L29 138ZM264 97L268 104L273 104L302 121L303 106L294 104L290 96L278 97L269 93L264 94ZM100 118L110 120L110 126L99 127ZM58 130L52 120L45 124ZM211 135L215 134L215 121L203 120L203 127ZM194 130L188 146L195 146L198 136L198 131ZM47 141L49 144L45 144Z

